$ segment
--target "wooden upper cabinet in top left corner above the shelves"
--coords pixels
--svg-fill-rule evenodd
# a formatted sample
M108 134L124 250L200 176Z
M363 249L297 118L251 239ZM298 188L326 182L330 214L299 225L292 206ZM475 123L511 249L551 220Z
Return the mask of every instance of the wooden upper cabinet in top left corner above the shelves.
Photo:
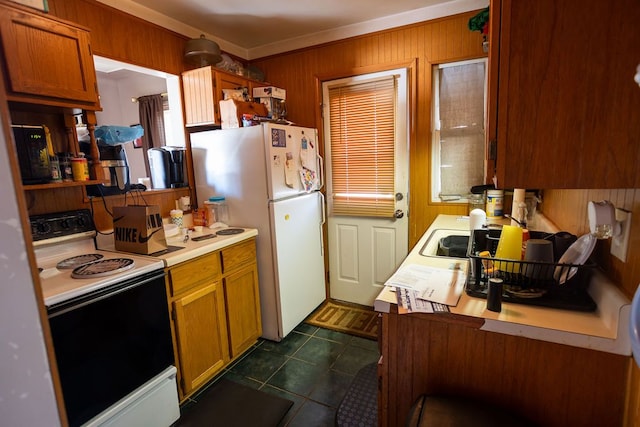
M0 36L10 101L100 109L86 29L0 3Z

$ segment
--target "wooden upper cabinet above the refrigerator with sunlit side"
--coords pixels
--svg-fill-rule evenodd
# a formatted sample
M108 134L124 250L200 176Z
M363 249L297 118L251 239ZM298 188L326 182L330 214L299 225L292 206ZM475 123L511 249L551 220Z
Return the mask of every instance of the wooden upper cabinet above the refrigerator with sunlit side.
M257 82L227 73L212 66L196 68L182 73L184 113L187 126L220 125L220 101L223 89L246 87L252 96ZM267 83L260 83L268 86Z

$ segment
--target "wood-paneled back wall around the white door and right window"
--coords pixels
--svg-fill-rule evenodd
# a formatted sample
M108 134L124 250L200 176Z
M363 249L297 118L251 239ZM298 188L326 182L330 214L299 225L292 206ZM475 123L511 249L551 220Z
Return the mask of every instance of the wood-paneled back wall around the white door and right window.
M270 83L287 90L288 118L316 127L320 133L323 80L400 66L411 68L410 247L438 214L467 214L466 204L429 202L431 66L486 56L480 34L467 27L473 15L475 12L464 13L252 61Z

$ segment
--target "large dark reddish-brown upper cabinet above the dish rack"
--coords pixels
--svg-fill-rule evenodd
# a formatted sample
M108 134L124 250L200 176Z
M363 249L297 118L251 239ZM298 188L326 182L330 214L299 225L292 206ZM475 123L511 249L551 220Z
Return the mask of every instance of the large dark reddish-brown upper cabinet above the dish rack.
M491 1L499 188L640 187L639 22L637 0Z

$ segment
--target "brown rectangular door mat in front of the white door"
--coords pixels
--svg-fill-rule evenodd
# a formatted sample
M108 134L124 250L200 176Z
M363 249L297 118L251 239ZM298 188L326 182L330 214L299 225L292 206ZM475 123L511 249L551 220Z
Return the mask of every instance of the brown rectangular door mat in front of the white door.
M373 308L327 300L305 323L372 340L378 339L378 313Z

